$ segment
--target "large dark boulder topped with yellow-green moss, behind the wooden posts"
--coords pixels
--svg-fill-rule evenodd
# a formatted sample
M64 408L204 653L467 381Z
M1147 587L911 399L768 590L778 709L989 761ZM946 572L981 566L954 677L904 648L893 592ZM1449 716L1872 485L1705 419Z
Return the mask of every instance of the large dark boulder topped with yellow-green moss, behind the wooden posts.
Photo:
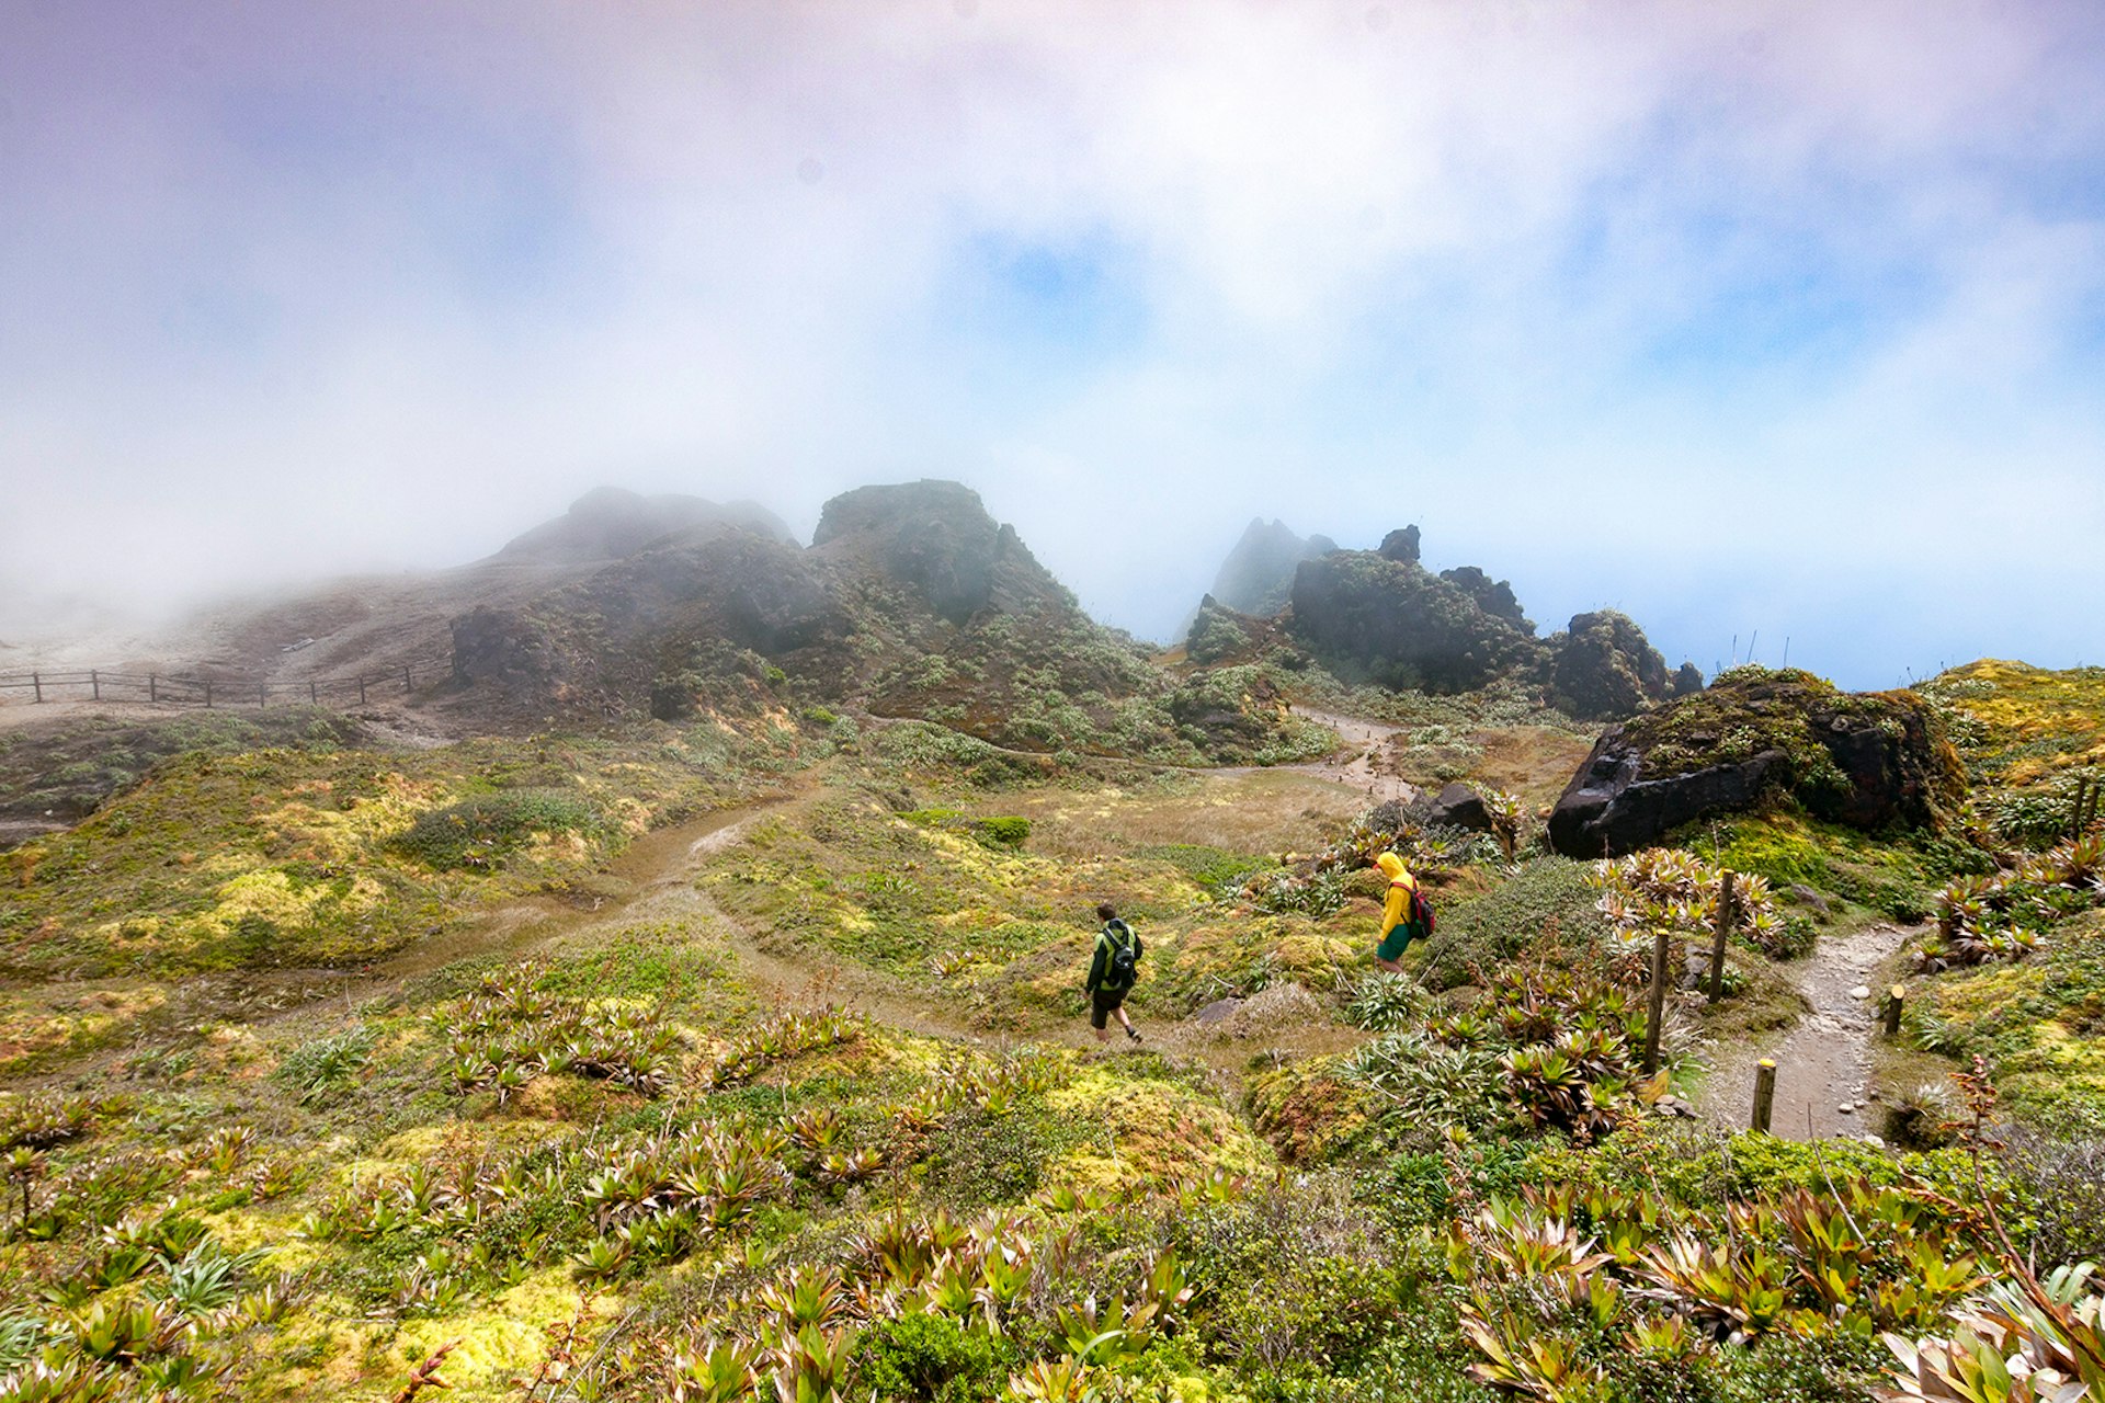
M1549 816L1575 858L1633 852L1671 829L1789 795L1857 829L1941 827L1966 776L1913 692L1838 692L1812 673L1741 667L1593 745Z

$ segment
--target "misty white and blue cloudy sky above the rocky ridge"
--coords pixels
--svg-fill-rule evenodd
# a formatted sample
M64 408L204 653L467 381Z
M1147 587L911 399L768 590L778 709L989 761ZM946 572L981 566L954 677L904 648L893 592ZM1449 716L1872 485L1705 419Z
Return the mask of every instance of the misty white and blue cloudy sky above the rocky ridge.
M1263 515L2101 663L2105 6L0 0L0 639L924 475L1154 639Z

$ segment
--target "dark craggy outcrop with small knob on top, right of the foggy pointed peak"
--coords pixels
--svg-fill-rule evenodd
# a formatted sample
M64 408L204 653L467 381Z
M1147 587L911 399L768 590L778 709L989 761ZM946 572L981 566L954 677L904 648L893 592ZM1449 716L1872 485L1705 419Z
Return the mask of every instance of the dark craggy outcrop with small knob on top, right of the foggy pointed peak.
M1400 532L1389 532L1398 541ZM1410 549L1417 549L1415 534ZM1541 644L1452 581L1385 551L1332 551L1295 570L1292 635L1330 671L1465 692L1532 667Z

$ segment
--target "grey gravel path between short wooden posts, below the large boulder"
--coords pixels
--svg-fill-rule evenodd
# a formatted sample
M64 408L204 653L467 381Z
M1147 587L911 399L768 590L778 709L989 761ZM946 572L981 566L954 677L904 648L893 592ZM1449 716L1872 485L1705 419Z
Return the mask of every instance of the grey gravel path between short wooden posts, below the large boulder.
M1878 1134L1871 1087L1871 1035L1878 1026L1878 968L1913 934L1899 926L1867 926L1827 936L1791 972L1810 1012L1781 1041L1720 1050L1705 1083L1711 1119L1743 1127L1753 1111L1753 1069L1777 1062L1770 1130L1787 1140ZM1869 989L1871 997L1855 997ZM1850 1106L1844 1111L1842 1106Z

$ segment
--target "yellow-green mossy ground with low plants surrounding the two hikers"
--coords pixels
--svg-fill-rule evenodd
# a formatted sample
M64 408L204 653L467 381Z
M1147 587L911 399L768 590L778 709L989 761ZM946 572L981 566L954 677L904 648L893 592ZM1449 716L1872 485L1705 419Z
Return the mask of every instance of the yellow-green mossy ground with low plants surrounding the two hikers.
M1530 799L1585 747L1476 700L1385 709ZM1427 858L1385 978L1364 797L1309 774L834 713L280 740L4 854L0 1397L1869 1399L1882 1331L2021 1270L1983 1193L2082 1247L2065 1159L1669 1115L1787 978L1735 949L1648 1075L1642 957L1532 831ZM1815 934L1972 860L1789 806L1684 841ZM1084 1022L1103 900L1139 1048ZM2080 1121L2101 934L1926 980L1911 1056Z

